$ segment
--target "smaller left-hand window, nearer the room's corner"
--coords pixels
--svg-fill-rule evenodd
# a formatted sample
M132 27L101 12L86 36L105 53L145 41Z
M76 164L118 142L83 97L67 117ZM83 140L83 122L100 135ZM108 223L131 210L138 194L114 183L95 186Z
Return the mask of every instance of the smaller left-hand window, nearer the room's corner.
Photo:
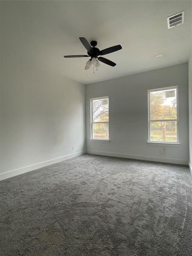
M109 140L109 99L91 99L91 139Z

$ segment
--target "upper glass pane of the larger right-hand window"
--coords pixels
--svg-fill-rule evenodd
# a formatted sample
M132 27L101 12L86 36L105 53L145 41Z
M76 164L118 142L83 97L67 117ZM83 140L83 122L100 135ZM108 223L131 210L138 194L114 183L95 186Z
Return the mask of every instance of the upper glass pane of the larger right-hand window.
M177 119L177 90L150 92L150 119Z

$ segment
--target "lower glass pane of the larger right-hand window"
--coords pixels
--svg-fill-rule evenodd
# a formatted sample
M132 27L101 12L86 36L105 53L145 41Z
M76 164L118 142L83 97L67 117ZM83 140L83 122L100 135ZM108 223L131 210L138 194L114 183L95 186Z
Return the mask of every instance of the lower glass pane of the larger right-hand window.
M150 140L161 142L177 142L177 122L150 122Z

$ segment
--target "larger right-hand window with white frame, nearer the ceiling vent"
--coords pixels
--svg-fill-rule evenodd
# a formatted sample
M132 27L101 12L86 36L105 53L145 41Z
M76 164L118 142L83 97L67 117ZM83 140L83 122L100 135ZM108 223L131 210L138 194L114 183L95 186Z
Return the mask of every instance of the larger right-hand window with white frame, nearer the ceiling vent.
M177 87L148 90L149 142L178 143Z

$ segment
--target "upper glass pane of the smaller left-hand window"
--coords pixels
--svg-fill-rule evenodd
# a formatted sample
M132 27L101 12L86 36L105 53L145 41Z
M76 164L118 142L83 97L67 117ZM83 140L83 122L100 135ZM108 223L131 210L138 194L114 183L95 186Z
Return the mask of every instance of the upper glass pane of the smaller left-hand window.
M94 99L93 100L93 122L109 121L109 100Z

